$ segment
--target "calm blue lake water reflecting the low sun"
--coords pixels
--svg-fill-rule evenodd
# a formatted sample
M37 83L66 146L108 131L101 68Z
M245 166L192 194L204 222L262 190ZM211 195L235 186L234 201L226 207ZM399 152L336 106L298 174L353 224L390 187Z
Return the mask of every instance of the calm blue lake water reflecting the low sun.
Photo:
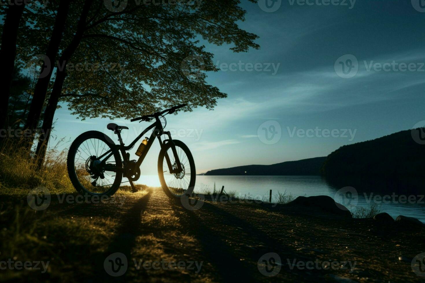
M158 176L142 176L139 181L141 184L150 186L160 186ZM410 202L404 199L398 199L400 193L391 196L393 193L371 193L370 191L362 191L361 188L355 188L351 194L347 196L346 191L339 191L341 188L329 185L322 177L319 176L196 176L195 191L204 191L205 189L212 191L214 188L235 191L239 196L249 195L251 198L269 199L269 190L272 190L272 196L278 192L292 194L292 196L330 196L335 201L346 205L350 210L354 211L356 207L370 207L378 205L383 212L387 212L394 219L401 215L411 216L425 222L425 198L423 193L406 193L406 198L410 197ZM357 198L355 196L357 195ZM377 196L378 195L378 196ZM385 195L385 202L382 201ZM422 199L421 199L422 198ZM374 199L376 201L374 201ZM404 203L403 203L404 202Z

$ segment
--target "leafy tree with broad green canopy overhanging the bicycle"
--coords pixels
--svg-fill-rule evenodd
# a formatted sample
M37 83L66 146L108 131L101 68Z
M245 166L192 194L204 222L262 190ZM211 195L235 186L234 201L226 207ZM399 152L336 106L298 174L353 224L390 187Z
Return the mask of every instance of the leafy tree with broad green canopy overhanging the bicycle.
M81 7L81 3L71 5ZM259 48L254 43L257 36L236 24L245 14L237 0L199 7L137 3L116 10L97 0L86 17L84 7L71 8L77 12L70 20L78 18L78 24L65 28L43 128L51 125L59 101L68 103L82 119L133 118L179 103L187 103L187 110L212 109L216 99L226 95L205 81L204 71L217 69L213 54L200 45L199 38L231 44L234 52ZM106 67L77 70L77 64ZM117 71L117 66L122 70ZM45 146L38 148L42 156Z

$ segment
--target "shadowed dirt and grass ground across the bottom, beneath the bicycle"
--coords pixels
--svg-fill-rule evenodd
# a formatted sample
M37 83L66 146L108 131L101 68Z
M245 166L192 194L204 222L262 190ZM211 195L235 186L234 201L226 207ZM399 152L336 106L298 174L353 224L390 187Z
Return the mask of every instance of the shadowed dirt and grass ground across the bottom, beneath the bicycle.
M34 213L24 201L17 205L16 199L4 197L2 236L18 236L3 243L1 260L32 258L50 264L45 273L6 270L2 280L400 282L425 278L411 268L411 260L425 252L424 231L401 232L372 219L300 214L299 208L285 206L205 202L201 209L187 210L161 190L118 194L115 200L94 205L60 203L53 197L46 210ZM15 219L16 211L24 217Z

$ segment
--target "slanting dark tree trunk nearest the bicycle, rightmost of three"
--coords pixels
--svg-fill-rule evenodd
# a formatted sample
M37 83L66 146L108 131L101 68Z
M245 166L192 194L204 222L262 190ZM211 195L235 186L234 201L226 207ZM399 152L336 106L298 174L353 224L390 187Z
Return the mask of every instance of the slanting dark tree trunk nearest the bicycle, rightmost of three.
M75 33L75 36L72 39L71 43L68 45L68 47L65 48L65 50L63 50L62 56L60 56L59 58L59 65L64 67L62 68L62 70L59 70L59 69L57 70L55 82L53 85L53 90L50 95L47 108L45 109L45 112L44 112L42 130L45 133L47 133L47 135L45 137L40 136L38 140L38 144L37 144L36 156L38 158L37 165L39 169L41 169L44 162L44 158L45 158L45 154L46 154L46 150L48 146L48 140L50 138L51 127L53 125L54 113L56 111L57 104L59 102L59 98L62 93L63 83L66 77L65 64L68 62L69 59L71 59L72 54L74 54L75 50L77 50L78 45L81 42L82 36L84 34L84 30L85 30L86 19L88 17L88 12L90 10L92 3L93 3L93 0L85 1L81 16L77 24L77 31Z

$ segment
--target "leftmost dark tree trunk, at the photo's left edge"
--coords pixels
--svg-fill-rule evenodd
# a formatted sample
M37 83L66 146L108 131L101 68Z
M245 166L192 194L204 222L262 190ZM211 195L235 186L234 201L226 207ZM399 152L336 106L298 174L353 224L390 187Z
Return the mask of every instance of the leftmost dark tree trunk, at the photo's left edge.
M0 68L0 85L2 94L0 95L0 127L7 127L8 101L10 96L10 86L14 63L16 57L16 40L19 22L25 8L24 2L21 5L9 5L3 25L3 35L1 38L0 58L3 66Z

